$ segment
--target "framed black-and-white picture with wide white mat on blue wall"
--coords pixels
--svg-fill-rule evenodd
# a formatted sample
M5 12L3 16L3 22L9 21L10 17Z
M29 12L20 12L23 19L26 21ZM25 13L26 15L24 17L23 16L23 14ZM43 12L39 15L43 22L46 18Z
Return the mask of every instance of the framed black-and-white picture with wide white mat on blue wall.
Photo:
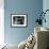
M27 27L26 14L12 14L12 27Z

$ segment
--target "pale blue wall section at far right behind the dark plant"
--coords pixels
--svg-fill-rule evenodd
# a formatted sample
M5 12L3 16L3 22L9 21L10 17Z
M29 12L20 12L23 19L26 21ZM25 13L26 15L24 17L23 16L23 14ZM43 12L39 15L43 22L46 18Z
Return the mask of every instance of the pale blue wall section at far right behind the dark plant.
M49 0L44 0L43 1L43 11L45 12L46 10L49 10ZM46 23L43 23L43 27L48 28L49 29L49 11L46 13Z

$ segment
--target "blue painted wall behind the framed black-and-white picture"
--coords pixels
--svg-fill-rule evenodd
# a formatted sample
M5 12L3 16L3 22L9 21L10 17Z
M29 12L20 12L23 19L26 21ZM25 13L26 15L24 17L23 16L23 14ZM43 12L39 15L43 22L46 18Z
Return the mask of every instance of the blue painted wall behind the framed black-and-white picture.
M4 40L19 44L34 32L35 20L43 11L43 0L4 0ZM11 14L28 14L27 28L11 28Z

